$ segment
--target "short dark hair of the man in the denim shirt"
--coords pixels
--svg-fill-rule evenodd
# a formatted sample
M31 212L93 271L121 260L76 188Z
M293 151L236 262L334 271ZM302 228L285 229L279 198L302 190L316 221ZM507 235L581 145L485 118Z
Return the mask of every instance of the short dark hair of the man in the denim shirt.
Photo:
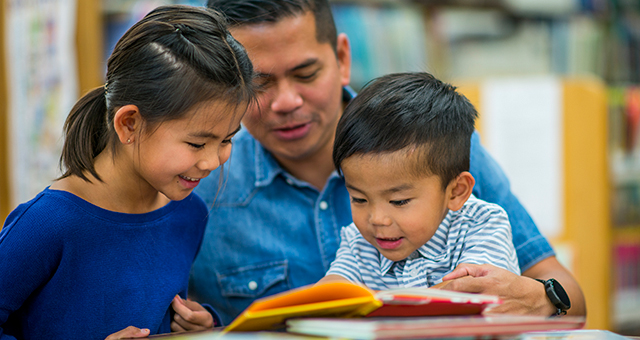
M337 30L327 0L209 0L207 7L221 12L231 26L278 22L311 11L316 19L316 40L337 49Z

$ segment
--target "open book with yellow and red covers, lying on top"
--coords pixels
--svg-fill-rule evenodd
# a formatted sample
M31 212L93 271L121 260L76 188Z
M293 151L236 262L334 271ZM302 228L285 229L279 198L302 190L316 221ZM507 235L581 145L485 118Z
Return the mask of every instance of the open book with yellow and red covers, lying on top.
M373 291L364 286L330 282L310 285L254 301L227 328L271 330L294 317L433 316L479 314L501 303L497 296L434 288Z

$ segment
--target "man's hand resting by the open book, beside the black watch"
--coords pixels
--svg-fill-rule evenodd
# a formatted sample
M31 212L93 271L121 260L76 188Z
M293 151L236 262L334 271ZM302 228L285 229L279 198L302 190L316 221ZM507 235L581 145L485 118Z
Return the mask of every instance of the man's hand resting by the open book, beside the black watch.
M556 312L540 282L493 265L463 263L442 280L444 282L437 288L499 296L502 304L486 309L485 315L550 316Z

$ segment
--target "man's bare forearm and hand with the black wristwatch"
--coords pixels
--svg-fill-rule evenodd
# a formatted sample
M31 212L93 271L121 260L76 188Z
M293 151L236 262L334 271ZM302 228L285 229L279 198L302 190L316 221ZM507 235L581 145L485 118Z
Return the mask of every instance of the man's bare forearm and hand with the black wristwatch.
M443 277L438 288L469 293L497 295L503 303L485 314L523 314L549 316L556 308L545 293L542 283L533 280L554 278L569 295L568 315L584 316L586 307L580 286L558 260L552 256L527 269L522 276L489 264L461 264Z

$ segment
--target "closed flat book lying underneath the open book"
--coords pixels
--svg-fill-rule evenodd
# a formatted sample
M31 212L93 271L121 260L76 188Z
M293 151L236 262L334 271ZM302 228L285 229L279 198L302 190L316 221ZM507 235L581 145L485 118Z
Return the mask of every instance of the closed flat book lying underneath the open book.
M532 331L579 329L583 317L520 315L413 318L331 319L287 321L287 332L348 339L415 339L515 335Z

